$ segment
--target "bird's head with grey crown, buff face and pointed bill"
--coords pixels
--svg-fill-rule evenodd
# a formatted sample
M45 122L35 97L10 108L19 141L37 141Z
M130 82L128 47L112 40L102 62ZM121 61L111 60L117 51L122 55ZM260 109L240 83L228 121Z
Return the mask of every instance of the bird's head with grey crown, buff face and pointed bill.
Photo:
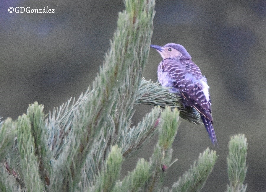
M182 45L176 43L168 43L163 47L158 45L150 45L150 46L152 48L155 48L156 51L160 53L163 59L173 58L173 57L191 59L191 56L186 51L186 49Z

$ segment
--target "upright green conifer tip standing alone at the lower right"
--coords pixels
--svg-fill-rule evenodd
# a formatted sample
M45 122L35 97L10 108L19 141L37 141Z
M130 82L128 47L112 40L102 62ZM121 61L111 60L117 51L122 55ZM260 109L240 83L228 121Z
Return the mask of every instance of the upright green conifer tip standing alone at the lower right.
M229 154L227 157L230 185L227 186L227 191L246 191L247 184L243 185L243 183L247 171L247 145L244 134L231 137L229 142Z

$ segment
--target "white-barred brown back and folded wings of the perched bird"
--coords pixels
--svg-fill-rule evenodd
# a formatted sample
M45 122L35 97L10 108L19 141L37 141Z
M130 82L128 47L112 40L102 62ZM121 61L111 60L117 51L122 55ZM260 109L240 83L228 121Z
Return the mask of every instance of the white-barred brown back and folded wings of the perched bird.
M169 60L165 66L168 66L165 70L173 79L172 86L181 92L190 106L213 121L209 86L199 67L191 60Z

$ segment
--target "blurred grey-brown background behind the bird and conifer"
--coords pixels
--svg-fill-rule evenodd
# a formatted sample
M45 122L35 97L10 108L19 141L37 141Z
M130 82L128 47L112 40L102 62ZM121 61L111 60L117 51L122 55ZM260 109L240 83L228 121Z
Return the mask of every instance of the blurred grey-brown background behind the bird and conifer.
M9 13L9 7L55 9L51 14ZM45 113L87 90L103 63L122 0L1 0L0 116L25 113L30 103ZM165 186L177 181L207 147L218 161L202 191L225 191L230 136L248 141L247 191L266 191L266 1L156 1L152 44L184 45L207 77L219 148L203 126L182 120ZM161 58L150 50L144 77L157 81ZM139 105L137 123L152 107ZM156 137L123 165L150 157ZM123 176L122 175L122 176Z

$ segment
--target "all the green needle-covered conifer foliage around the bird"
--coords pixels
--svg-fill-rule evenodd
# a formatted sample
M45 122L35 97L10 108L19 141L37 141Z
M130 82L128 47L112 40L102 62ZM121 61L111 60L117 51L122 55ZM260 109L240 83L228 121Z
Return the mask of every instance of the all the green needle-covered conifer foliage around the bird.
M142 79L155 1L126 0L125 6L104 64L87 92L47 117L43 105L35 102L16 121L0 122L1 191L161 191L175 162L172 144L179 116L202 122L168 88ZM131 126L134 106L141 103L155 107ZM119 180L123 161L155 134L158 142L149 161L138 160L136 168ZM246 151L238 151L244 147L234 142L229 144L228 189L240 188L246 174ZM199 191L216 160L216 152L206 149L171 190L163 191Z

